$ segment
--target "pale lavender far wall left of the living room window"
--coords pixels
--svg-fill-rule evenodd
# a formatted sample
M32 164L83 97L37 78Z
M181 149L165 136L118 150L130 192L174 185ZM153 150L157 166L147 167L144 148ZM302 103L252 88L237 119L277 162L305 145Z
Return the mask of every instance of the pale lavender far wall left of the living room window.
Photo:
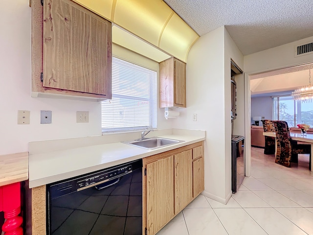
M265 119L272 119L273 101L270 96L251 97L251 124L254 124L252 117L259 116ZM262 122L259 123L262 126Z

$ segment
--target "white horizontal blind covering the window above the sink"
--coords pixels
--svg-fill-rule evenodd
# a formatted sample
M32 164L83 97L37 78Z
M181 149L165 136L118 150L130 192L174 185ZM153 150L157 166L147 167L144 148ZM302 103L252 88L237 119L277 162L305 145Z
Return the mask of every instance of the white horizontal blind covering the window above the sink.
M156 71L112 57L112 100L102 101L102 132L156 128Z

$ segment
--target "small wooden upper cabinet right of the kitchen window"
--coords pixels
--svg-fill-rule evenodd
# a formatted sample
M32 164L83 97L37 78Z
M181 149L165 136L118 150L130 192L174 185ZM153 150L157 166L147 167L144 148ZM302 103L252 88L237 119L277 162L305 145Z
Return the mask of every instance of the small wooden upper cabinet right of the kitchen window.
M171 57L159 70L160 108L186 107L186 64Z

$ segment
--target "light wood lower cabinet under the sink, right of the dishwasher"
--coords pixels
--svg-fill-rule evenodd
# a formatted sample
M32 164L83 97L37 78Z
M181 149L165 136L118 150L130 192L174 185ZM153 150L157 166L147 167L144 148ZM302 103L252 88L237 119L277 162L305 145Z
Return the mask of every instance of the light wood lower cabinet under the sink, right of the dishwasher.
M155 235L201 193L203 164L202 141L143 159L143 234Z

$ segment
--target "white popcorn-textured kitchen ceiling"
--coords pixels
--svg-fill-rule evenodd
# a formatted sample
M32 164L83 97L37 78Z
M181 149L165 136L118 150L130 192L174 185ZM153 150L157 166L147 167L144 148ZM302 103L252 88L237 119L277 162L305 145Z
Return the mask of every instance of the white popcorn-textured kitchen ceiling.
M225 25L244 55L313 36L313 0L164 0L200 36Z

